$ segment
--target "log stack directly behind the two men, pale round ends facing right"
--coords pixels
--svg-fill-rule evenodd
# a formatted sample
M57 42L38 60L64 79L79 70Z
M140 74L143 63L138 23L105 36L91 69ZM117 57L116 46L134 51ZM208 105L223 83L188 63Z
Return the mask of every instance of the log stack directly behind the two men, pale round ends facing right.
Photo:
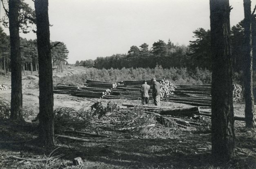
M153 83L150 79L147 79L147 84L151 86L151 91L153 88ZM169 82L165 78L157 78L156 81L160 82L162 85L161 98L165 95L173 94L172 91L175 91L175 86L173 83ZM116 87L111 91L111 95L107 95L104 98L106 99L131 99L138 100L141 98L140 87L143 84L143 80L125 80L119 82L121 85ZM149 97L149 99L152 99Z

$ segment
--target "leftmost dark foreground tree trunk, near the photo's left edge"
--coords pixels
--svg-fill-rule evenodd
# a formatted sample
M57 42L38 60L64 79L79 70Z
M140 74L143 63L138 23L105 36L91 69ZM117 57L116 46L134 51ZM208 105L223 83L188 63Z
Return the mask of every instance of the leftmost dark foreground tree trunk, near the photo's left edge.
M9 0L9 32L11 45L11 119L23 120L22 83L18 8L20 0Z

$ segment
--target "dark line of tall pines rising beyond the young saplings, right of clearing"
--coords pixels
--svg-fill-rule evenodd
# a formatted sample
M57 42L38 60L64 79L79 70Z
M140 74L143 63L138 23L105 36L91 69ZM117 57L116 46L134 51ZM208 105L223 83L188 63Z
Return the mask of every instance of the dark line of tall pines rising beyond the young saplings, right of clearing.
M255 20L254 20L255 22ZM256 28L254 28L256 29ZM255 31L255 30L254 30ZM194 40L189 45L178 45L168 40L158 40L149 49L147 43L139 47L133 45L127 54L113 54L107 57L97 57L96 60L76 61L76 66L95 67L97 69L125 68L154 68L161 65L163 68L200 67L211 70L211 31L198 28L194 33ZM243 70L243 54L245 52L245 31L243 20L232 27L230 32L232 67L235 72ZM256 56L254 56L256 61ZM254 64L256 65L256 64ZM254 69L255 66L254 66Z

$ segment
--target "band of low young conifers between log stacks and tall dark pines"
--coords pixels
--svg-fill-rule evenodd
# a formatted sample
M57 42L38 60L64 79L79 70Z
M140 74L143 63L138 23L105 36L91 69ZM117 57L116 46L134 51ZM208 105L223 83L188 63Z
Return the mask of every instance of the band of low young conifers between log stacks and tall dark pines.
M84 74L73 74L61 78L54 78L54 85L83 86L87 79L120 82L122 80L141 80L156 78L167 78L176 85L199 85L211 83L211 72L207 69L196 69L191 72L187 68L164 69L157 66L150 68L122 68L122 69L95 69L85 68Z

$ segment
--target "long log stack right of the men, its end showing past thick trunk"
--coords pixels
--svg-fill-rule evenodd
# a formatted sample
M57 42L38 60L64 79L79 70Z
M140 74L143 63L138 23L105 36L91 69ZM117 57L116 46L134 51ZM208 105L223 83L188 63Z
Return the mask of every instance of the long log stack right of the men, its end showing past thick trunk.
M163 100L189 104L192 106L211 107L211 85L177 85L174 95L167 95ZM233 85L233 101L241 102L243 100L243 87Z

